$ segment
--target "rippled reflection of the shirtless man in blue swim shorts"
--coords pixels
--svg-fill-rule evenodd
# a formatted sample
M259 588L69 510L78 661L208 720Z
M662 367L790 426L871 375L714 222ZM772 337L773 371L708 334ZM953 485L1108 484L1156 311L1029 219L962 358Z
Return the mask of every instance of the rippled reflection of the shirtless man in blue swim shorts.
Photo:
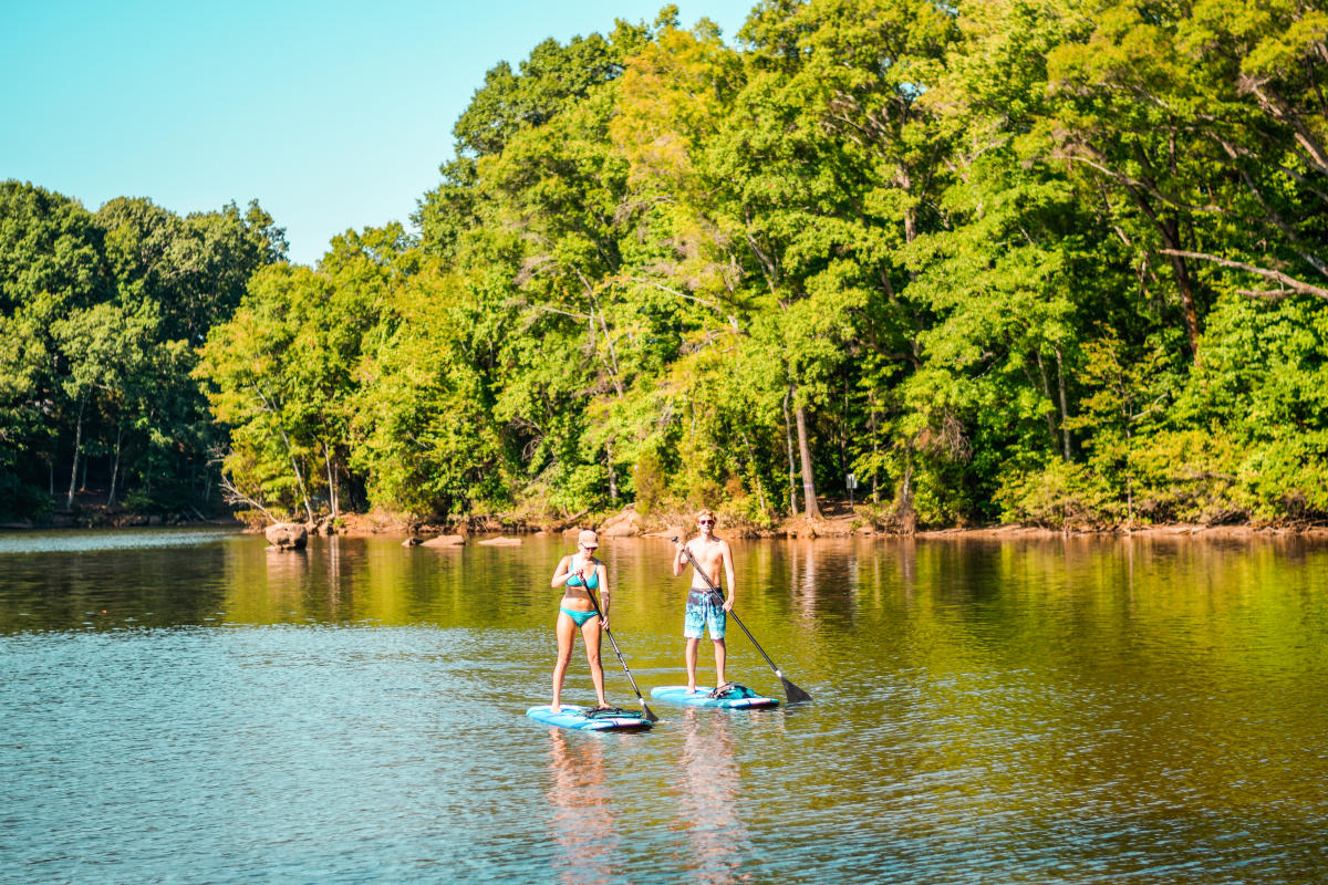
M683 732L681 778L673 793L691 848L692 881L708 885L746 881L742 861L752 845L737 811L741 771L734 759L729 715L687 707L677 728Z

